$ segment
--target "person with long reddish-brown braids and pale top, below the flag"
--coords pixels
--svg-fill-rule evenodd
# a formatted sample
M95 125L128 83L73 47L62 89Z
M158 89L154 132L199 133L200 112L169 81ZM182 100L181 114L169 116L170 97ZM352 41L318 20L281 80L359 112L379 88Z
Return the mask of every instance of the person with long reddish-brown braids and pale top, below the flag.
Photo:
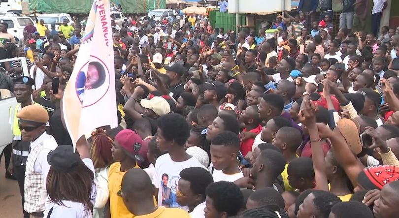
M114 141L105 135L102 128L92 132L93 144L90 155L92 156L94 168L96 169L95 182L97 185L96 203L93 208L93 218L104 217L104 207L109 198L108 171L114 162L111 149Z

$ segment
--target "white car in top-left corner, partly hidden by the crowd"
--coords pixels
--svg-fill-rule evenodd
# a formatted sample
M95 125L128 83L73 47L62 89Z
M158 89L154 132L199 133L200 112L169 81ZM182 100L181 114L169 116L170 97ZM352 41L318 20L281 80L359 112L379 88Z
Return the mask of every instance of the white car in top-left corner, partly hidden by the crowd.
M16 15L0 16L0 22L8 24L8 33L14 35L18 39L22 39L24 37L22 32L24 31L25 26L28 26L29 21L36 26L35 22L30 17L18 17Z

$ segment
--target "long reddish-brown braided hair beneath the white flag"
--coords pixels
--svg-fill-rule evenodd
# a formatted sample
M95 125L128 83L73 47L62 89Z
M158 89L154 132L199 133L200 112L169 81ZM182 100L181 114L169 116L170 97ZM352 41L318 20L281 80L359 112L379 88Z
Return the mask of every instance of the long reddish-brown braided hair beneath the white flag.
M113 163L111 149L114 146L114 141L105 135L105 131L102 128L92 132L93 145L90 149L90 155L92 156L94 168L104 168L110 166Z

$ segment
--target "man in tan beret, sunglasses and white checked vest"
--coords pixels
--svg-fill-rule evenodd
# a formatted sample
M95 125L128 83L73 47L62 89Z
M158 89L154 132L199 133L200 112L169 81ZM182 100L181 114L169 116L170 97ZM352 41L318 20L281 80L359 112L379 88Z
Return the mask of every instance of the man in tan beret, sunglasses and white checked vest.
M42 106L33 104L17 113L22 140L30 141L31 148L26 163L24 209L31 218L43 217L47 198L46 180L50 170L47 155L57 148L57 142L47 135L48 113Z

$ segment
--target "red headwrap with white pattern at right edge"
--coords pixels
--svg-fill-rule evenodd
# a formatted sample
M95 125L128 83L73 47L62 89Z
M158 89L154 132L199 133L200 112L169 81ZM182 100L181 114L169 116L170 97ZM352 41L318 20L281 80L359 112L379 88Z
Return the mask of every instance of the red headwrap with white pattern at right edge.
M371 190L381 190L386 184L398 181L399 171L393 165L376 165L369 166L359 173L357 182L362 187Z

